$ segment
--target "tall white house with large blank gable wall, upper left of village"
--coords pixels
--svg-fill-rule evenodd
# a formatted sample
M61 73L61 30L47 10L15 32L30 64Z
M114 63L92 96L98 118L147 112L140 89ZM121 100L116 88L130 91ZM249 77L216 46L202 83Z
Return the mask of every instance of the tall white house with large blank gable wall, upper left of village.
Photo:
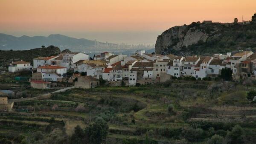
M67 69L71 69L72 65L79 60L89 60L89 55L83 54L81 52L67 53L63 55L62 66L67 67Z

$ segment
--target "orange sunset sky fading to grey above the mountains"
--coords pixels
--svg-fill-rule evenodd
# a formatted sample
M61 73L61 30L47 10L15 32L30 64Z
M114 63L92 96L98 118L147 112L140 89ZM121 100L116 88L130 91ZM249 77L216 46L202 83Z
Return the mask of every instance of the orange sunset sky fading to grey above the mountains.
M172 26L254 13L256 0L0 0L0 33L154 44Z

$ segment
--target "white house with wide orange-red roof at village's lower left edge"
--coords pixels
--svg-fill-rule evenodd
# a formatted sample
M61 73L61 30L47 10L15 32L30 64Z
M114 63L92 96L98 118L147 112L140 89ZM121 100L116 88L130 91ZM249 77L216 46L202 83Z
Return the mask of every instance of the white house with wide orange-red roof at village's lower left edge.
M66 77L67 68L62 66L39 66L37 72L42 74L43 81L58 81Z

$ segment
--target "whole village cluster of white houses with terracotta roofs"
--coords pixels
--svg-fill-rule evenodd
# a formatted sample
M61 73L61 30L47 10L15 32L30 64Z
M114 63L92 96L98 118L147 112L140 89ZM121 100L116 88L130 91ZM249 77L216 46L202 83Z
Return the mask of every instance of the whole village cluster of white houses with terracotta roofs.
M70 52L35 58L33 66L29 62L17 61L9 66L9 72L36 69L30 79L31 86L47 89L52 82L64 79L73 81L75 87L91 88L98 86L100 80L107 81L110 86L135 86L163 82L171 77L214 78L224 68L233 71L233 79L254 79L256 54L239 51L233 55L228 52L225 55L184 57L147 54L143 50L131 56L102 52L90 60L84 53ZM73 77L67 78L68 71L74 72Z

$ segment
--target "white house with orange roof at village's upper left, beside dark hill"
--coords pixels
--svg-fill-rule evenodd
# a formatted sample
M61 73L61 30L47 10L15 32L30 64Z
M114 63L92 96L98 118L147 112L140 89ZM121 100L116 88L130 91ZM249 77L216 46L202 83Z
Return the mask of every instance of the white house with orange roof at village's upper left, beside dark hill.
M46 66L46 65L52 65L52 61L55 58L58 58L58 56L50 56L50 57L38 57L33 59L33 68L38 68L38 66Z

